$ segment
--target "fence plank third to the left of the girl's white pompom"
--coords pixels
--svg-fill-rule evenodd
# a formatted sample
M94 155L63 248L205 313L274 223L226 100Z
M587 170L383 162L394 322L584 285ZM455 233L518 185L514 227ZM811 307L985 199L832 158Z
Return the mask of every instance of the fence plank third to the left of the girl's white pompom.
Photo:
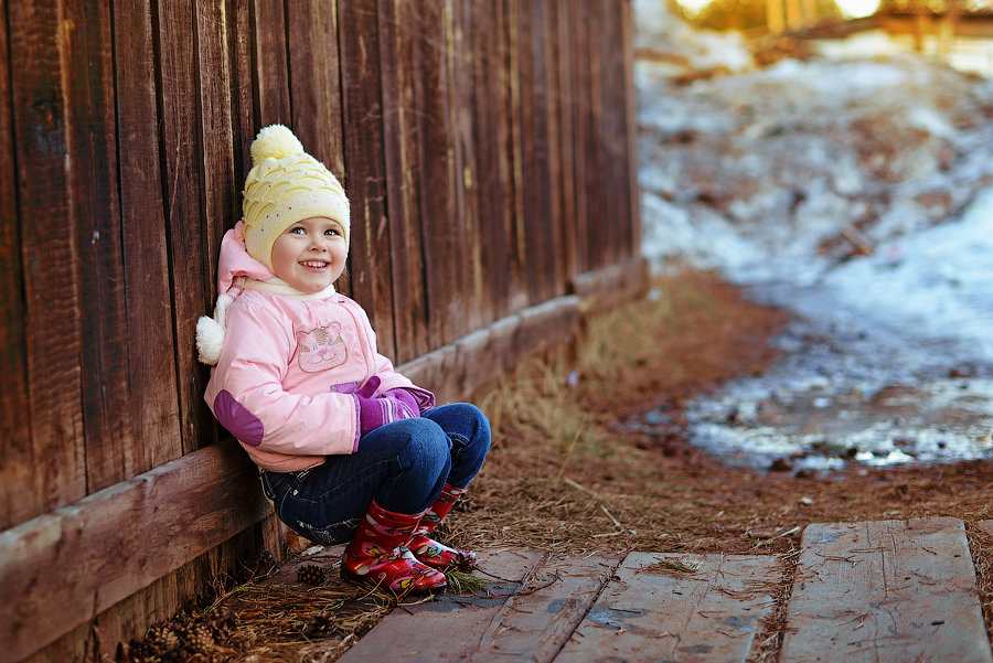
M110 12L68 3L65 85L70 190L78 247L86 483L93 493L137 473L128 411L127 309L117 190Z

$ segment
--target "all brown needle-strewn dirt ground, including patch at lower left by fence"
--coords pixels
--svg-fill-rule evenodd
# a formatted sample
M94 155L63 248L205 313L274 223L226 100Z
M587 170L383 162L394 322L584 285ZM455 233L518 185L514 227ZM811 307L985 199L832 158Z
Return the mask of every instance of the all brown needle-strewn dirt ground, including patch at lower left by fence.
M993 518L993 462L757 472L726 467L680 434L628 425L660 407L680 421L687 399L761 372L777 359L769 340L787 320L713 275L682 269L660 278L651 297L587 321L575 346L473 396L491 419L493 449L439 533L473 548L776 555L782 607L804 525L954 516L967 523L989 627L993 537L975 525ZM157 659L153 646L132 643L121 659L332 661L395 600L345 585L330 568L327 576L316 587L259 577L170 622L180 635L207 624L213 651L179 646ZM750 661L775 660L781 622L781 612L767 621Z

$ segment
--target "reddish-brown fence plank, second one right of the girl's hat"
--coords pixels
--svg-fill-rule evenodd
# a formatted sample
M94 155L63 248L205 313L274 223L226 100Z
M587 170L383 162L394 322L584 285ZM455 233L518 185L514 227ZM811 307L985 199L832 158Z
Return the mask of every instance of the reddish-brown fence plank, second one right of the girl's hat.
M397 364L430 350L412 67L416 35L404 25L404 4L403 0L380 0L377 17Z

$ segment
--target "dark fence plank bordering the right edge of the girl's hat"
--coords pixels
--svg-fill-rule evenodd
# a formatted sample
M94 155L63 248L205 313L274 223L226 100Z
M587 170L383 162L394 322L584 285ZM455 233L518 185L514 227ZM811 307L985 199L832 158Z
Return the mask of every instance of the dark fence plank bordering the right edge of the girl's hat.
M396 356L377 8L339 0L345 191L351 203L351 290L376 331L378 350Z

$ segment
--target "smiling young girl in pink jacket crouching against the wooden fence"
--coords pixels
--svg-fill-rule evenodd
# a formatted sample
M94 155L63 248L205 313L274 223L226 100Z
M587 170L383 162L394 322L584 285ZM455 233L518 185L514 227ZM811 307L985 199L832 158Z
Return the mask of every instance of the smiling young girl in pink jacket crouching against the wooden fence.
M319 544L351 539L341 573L396 592L444 589L476 556L430 538L490 448L485 416L434 395L376 351L334 291L349 201L281 125L252 143L244 218L221 245L214 318L197 322L205 398L260 468L279 518Z

